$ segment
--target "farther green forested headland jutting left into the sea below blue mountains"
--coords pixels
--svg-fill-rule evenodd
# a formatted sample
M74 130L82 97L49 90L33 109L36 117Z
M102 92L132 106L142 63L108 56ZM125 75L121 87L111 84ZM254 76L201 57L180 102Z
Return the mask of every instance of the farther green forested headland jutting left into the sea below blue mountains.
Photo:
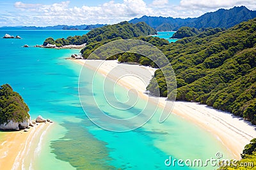
M84 34L83 36L68 36L65 38L53 38L45 39L43 45L48 43L56 46L65 45L90 45L90 43L96 43L99 41L109 41L109 39L122 38L129 39L139 36L148 36L157 34L155 29L145 24L145 22L138 22L137 24L129 24L129 22L120 22L119 24L106 25Z

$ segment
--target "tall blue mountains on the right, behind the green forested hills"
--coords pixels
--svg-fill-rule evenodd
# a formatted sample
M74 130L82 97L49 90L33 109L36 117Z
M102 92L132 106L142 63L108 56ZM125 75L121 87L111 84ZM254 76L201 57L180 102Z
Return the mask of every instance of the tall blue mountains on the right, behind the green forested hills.
M245 6L234 7L230 10L220 9L218 11L205 13L198 18L172 18L172 17L148 17L134 18L129 22L146 22L157 31L177 31L180 27L224 27L230 28L243 21L256 17L256 11L248 10Z

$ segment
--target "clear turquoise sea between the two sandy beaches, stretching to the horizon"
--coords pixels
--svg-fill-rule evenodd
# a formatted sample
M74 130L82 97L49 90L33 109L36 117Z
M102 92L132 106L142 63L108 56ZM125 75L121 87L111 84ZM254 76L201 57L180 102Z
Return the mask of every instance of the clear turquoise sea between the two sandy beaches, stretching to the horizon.
M211 132L176 115L170 115L163 124L158 123L159 117L153 117L143 127L130 132L109 132L90 122L81 108L77 92L81 66L65 60L79 50L33 47L48 37L67 38L86 32L0 31L0 36L8 33L22 38L0 38L0 84L9 83L20 93L32 118L42 115L55 122L44 136L39 155L24 163L26 169L216 169L211 166L179 167L177 164L168 167L164 161L170 157L206 160L216 158L216 152L230 157ZM23 48L26 44L31 47ZM87 71L88 76L92 76L93 72ZM95 81L100 84L103 80L104 77L98 74ZM126 91L118 86L116 95L125 99ZM93 95L104 102L102 93L99 88ZM138 103L134 110L143 109L145 101L139 99ZM90 106L88 100L86 111L93 113L95 108ZM113 108L104 110L111 114ZM124 114L132 115L134 110Z

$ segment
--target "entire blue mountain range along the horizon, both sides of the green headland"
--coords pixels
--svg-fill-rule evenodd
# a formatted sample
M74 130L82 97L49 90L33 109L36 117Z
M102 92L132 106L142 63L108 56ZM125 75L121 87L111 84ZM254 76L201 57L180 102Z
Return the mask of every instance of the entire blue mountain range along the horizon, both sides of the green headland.
M195 27L196 29L206 27L223 27L230 28L243 21L248 21L256 17L256 11L248 10L245 6L234 7L230 10L220 9L218 11L205 13L198 18L172 18L172 17L148 17L134 18L129 22L136 24L145 22L157 31L177 31L180 27ZM0 27L0 30L91 30L98 27L103 27L104 24L95 25L56 25L49 27Z

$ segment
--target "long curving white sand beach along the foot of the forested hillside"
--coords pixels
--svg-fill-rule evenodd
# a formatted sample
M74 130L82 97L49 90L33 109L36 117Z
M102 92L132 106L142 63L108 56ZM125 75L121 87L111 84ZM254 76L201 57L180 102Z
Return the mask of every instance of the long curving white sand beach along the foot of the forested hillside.
M152 67L118 64L117 60L73 61L90 69L97 70L127 89L136 89L140 97L145 99L149 97L145 94L145 90L156 70ZM113 70L118 74L111 74ZM155 100L159 106L168 104L164 97L160 99L150 97L150 100ZM243 152L244 146L250 143L251 139L256 138L255 126L251 125L250 122L244 121L243 118L234 117L230 113L214 110L204 104L176 101L172 113L186 118L200 125L206 131L211 132L230 150L230 153L234 156L233 159L241 159L240 154Z

